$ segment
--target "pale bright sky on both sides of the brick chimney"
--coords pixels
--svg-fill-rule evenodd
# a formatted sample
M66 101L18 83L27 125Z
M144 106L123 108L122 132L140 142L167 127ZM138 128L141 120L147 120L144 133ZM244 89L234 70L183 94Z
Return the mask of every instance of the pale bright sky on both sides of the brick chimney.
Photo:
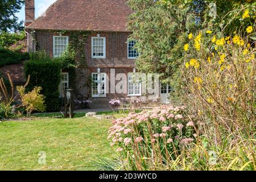
M35 18L42 15L44 11L56 0L35 0ZM25 20L25 6L23 5L22 10L16 14L20 20Z

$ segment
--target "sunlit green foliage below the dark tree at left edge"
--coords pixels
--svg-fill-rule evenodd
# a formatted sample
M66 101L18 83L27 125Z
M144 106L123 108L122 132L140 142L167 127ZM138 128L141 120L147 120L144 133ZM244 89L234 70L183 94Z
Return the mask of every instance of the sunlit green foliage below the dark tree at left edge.
M0 47L8 48L16 44L19 40L26 38L25 31L21 32L1 32L0 33Z

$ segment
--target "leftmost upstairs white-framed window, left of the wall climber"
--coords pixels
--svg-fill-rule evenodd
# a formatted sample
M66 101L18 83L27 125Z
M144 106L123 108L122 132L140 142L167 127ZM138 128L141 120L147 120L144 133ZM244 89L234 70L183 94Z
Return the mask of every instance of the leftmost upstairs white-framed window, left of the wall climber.
M53 36L53 56L59 57L68 47L68 36Z

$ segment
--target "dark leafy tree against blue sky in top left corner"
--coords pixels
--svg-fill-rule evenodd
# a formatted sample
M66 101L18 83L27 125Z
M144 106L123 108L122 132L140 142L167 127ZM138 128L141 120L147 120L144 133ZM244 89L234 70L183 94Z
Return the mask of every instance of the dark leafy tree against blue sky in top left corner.
M18 13L24 0L0 0L0 32L17 31L23 29L23 22L18 22Z

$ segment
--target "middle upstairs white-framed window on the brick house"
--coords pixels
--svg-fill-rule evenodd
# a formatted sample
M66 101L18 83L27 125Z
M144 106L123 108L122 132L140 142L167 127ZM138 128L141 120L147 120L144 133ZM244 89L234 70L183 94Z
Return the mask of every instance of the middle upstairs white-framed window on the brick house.
M106 38L92 37L92 58L106 58Z

